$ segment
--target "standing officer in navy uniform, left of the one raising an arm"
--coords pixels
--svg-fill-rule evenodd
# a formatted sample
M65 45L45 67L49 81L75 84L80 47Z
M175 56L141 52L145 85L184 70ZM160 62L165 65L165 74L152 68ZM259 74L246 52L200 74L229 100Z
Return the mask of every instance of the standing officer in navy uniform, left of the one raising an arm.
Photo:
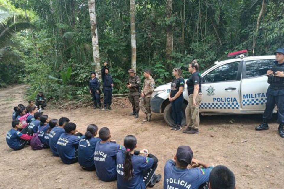
M91 72L91 79L89 81L90 94L93 96L94 109L101 108L100 100L100 81L96 78L96 72Z

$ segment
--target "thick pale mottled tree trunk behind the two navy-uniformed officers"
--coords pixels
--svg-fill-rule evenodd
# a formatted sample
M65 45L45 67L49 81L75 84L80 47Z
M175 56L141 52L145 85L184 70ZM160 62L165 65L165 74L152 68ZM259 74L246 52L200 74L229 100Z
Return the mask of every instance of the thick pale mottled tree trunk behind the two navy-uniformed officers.
M93 45L93 58L95 63L96 75L101 79L101 66L100 66L100 56L99 56L99 40L98 40L98 30L96 21L96 0L88 0L89 13L90 13L90 23L91 23L91 35L92 35L92 45Z

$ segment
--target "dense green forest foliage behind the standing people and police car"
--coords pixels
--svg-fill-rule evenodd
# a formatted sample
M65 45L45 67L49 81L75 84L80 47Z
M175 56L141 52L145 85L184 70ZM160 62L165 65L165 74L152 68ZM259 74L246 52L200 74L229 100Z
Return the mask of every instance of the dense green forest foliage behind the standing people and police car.
M35 39L29 30L14 37L18 43L14 50L19 52L19 65L22 65L17 67L17 72L13 70L19 77L16 80L31 86L31 97L40 89L47 97L58 100L80 99L87 94L89 73L94 65L88 1L9 2L14 9L28 10L31 23L36 26ZM249 55L253 55L254 41L254 55L271 54L283 46L284 4L281 1L265 1L258 32L256 25L262 0L173 1L170 19L166 18L166 1L135 2L138 75L142 76L143 70L150 68L157 84L169 82L171 70L176 66L182 67L187 77L187 66L193 58L204 69L226 58L228 52L248 49ZM129 0L96 1L96 16L101 63L109 62L114 93L127 92L125 82L131 66ZM173 24L173 53L172 61L165 61L169 24ZM0 70L1 75L5 72Z

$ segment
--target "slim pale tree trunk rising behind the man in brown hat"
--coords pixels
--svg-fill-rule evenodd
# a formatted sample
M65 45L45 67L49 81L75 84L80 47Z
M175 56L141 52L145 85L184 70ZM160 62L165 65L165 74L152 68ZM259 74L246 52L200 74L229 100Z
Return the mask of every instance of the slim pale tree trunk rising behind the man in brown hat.
M131 68L136 72L135 0L130 0Z

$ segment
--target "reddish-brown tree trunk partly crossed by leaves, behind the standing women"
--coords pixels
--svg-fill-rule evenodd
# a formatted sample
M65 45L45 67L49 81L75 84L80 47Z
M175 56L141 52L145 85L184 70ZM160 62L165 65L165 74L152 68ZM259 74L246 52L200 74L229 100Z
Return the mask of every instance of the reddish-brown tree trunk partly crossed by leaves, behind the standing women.
M167 19L172 17L172 0L167 0ZM167 25L166 60L172 61L172 23Z

